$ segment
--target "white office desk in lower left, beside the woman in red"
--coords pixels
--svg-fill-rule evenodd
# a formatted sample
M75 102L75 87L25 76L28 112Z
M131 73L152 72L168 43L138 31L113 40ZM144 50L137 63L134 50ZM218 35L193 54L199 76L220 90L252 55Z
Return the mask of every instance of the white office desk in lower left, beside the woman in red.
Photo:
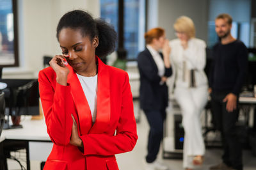
M20 124L23 128L3 130L1 147L3 151L8 146L17 146L26 149L27 169L30 169L29 160L45 161L51 152L52 142L47 134L45 120L31 120L31 116L22 116ZM3 153L1 153L3 154ZM4 162L7 168L6 162ZM4 169L4 167L0 167Z

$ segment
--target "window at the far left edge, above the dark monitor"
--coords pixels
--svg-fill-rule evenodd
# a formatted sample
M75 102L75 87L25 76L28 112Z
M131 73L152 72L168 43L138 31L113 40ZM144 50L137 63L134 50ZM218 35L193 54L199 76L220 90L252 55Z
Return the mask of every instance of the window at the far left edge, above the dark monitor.
M18 66L16 0L0 0L0 67Z

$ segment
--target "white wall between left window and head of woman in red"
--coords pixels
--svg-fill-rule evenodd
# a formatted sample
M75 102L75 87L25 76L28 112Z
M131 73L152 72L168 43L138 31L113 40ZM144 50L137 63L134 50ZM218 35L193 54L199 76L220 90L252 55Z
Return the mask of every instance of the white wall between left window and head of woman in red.
M99 0L19 0L19 68L4 68L3 78L37 77L42 57L60 54L56 27L60 17L75 9L99 17Z

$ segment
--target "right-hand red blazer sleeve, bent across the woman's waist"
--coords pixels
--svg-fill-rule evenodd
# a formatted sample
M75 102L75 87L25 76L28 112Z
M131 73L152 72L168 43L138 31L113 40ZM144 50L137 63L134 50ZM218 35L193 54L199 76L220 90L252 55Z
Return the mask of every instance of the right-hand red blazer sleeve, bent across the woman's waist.
M82 135L81 139L84 144L84 155L115 155L134 148L138 136L127 73L122 86L122 106L116 134L86 134Z

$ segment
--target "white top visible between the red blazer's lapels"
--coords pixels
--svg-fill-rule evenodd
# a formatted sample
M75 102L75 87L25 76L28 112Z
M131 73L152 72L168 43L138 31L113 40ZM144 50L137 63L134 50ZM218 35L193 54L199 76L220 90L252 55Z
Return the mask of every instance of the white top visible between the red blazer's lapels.
M97 114L97 84L98 84L98 75L92 77L84 77L77 74L77 77L81 83L81 86L84 91L84 95L87 99L88 105L92 114L93 123L96 120Z

